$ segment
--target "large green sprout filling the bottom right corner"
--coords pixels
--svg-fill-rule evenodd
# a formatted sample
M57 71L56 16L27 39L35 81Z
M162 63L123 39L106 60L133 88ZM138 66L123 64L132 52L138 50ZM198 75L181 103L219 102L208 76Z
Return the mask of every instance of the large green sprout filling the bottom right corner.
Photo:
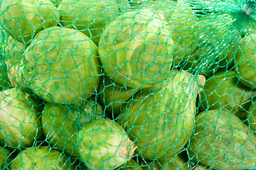
M191 159L213 169L251 169L256 162L256 135L227 111L196 116L195 135L188 144Z

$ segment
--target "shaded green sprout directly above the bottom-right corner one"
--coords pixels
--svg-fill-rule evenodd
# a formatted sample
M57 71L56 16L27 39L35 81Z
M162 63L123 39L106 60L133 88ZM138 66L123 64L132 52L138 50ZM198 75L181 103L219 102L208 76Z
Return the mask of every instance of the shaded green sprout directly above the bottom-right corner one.
M254 96L256 91L241 84L235 71L230 70L218 72L206 79L199 102L201 111L230 111L241 120L245 120Z

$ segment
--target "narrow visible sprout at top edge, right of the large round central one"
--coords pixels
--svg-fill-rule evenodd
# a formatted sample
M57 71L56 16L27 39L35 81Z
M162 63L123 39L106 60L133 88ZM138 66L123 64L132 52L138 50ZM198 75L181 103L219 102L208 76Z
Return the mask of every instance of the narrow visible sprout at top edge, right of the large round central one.
M196 62L195 43L199 40L198 18L188 1L178 1L172 7L167 18L168 26L172 30L174 40L174 64L179 66L185 63L183 69L189 69Z

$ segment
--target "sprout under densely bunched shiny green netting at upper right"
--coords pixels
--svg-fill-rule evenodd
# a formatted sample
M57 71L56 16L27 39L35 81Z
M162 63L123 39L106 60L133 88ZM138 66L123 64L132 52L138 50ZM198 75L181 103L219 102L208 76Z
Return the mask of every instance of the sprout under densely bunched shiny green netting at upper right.
M239 29L235 25L234 16L228 13L210 13L198 18L196 35L190 55L196 60L190 61L188 70L198 70L206 77L221 69L229 69L234 65L235 53L240 39Z

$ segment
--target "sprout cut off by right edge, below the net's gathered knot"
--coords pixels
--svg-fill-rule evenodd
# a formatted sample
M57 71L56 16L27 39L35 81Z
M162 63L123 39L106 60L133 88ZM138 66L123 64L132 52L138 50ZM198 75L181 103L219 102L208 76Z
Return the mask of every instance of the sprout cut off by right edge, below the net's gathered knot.
M249 34L239 41L238 52L235 55L235 71L240 82L245 86L256 89L256 33Z

